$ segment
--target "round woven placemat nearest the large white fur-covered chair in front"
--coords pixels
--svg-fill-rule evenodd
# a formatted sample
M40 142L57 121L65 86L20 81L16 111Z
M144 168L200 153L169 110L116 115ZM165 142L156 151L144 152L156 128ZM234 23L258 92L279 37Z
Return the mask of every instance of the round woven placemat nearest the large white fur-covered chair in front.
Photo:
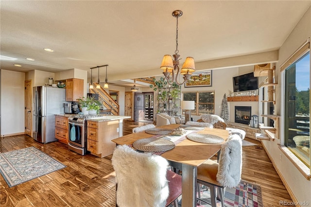
M156 153L171 150L175 144L173 141L163 138L143 138L134 141L133 147L139 151Z

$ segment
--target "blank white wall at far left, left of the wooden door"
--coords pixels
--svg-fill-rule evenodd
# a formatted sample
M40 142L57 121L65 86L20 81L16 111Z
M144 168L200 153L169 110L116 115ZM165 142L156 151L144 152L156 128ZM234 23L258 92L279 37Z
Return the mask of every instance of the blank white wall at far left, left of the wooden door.
M25 73L1 69L1 136L25 132Z

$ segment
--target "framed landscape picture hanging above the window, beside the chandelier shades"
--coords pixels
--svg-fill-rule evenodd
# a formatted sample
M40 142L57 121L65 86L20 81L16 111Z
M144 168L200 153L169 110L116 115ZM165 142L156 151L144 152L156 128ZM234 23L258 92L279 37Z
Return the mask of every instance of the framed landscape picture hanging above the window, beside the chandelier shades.
M190 81L185 83L185 87L212 86L212 71L205 70L192 73Z

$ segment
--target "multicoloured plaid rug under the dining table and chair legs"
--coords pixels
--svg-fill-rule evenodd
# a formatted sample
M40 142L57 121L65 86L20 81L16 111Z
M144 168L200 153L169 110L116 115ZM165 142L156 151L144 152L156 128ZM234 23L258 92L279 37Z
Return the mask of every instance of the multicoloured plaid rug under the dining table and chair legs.
M209 197L209 190L204 190L202 198L210 203ZM221 206L221 204L217 203L217 206ZM210 207L210 205L202 202L200 207ZM261 187L241 180L238 187L232 189L226 188L225 207L263 207Z

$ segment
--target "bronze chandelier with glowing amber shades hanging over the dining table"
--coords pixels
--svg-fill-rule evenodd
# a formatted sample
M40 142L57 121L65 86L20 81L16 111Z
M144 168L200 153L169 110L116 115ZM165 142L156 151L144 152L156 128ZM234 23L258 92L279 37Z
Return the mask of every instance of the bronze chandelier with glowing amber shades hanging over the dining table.
M195 71L194 59L193 57L187 57L183 67L179 69L179 60L180 55L178 54L178 17L183 15L181 10L175 10L172 13L173 17L176 17L176 50L173 54L173 58L170 54L166 54L163 57L162 64L160 69L163 69L163 74L165 79L171 85L175 82L177 85L183 85L185 82L190 80L192 72ZM170 76L172 74L172 76ZM178 75L182 74L184 81L182 83L178 82Z

